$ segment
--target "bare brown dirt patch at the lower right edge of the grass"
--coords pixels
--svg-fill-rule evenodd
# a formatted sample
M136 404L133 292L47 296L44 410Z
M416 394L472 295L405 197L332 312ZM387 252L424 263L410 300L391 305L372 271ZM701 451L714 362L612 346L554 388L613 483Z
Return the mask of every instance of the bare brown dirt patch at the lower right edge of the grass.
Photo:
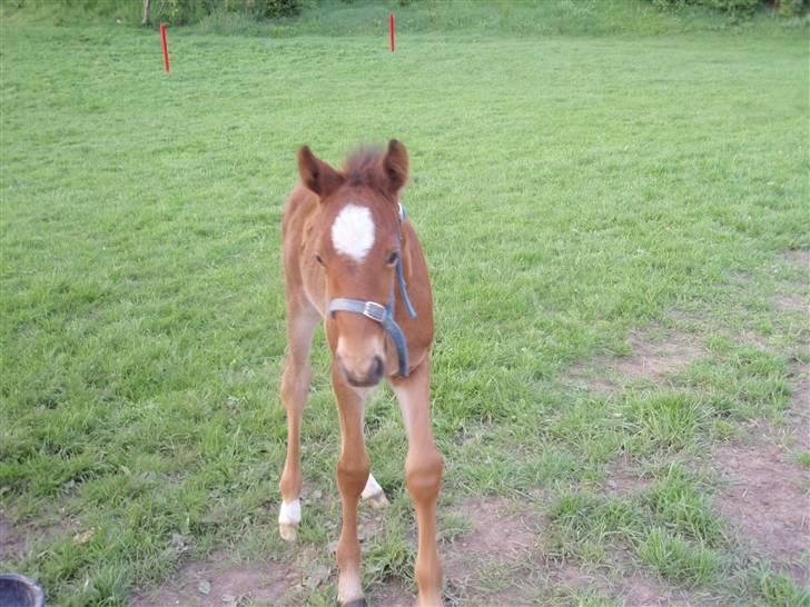
M789 571L810 581L810 482L808 472L773 440L771 428L752 427L748 444L714 450L713 465L729 482L714 504L739 531L740 540ZM807 427L804 427L807 431Z

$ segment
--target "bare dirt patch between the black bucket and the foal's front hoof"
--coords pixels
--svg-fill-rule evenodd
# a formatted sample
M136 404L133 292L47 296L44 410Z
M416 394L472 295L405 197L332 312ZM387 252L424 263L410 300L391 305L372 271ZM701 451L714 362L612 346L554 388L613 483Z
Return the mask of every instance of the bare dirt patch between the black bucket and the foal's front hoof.
M136 593L134 607L237 607L284 605L287 591L300 583L294 569L275 561L228 565L215 554L205 563L188 563L167 586Z

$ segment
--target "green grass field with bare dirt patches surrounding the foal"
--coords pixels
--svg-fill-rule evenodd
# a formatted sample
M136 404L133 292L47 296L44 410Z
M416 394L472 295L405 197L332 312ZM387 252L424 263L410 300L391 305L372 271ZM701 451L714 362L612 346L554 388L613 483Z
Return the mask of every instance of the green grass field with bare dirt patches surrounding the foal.
M382 14L170 30L169 74L154 30L0 24L0 570L52 605L334 604L320 331L304 520L277 536L279 225L298 146L396 137L447 601L808 605L804 30L406 30L392 54ZM363 507L366 589L405 605L387 388L366 420L392 501Z

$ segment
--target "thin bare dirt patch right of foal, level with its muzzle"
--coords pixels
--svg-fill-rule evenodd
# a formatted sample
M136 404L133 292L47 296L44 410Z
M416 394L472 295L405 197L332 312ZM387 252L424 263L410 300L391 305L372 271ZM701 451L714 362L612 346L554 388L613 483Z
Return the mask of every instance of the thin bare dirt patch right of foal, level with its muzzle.
M628 381L641 379L658 384L704 354L695 336L678 331L665 337L640 331L631 334L628 341L632 351L628 357L599 357L574 367L574 384L597 392L613 392Z

